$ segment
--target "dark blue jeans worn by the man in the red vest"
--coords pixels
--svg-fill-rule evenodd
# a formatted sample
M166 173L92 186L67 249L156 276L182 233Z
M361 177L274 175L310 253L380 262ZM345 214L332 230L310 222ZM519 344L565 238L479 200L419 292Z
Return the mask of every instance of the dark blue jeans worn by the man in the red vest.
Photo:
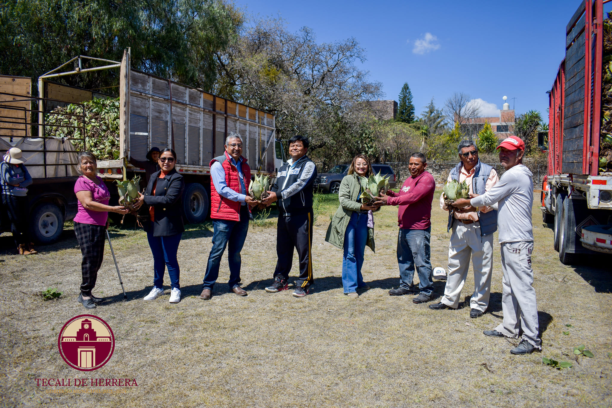
M230 264L230 289L240 286L240 265L242 259L240 251L248 232L248 208L241 206L240 221L212 220L212 248L208 256L206 274L204 274L203 289L211 289L219 277L219 264L221 257L228 247L228 262Z

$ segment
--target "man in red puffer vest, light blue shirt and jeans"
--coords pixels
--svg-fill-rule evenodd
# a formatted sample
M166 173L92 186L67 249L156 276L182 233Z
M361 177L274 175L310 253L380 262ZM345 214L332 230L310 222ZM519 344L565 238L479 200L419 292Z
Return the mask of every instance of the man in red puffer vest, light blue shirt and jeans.
M251 169L242 157L242 138L230 133L225 139L225 152L211 160L212 248L200 299L211 299L212 287L219 276L221 257L228 246L230 290L239 296L247 291L240 287L240 251L247 238L250 205L257 201L248 195Z

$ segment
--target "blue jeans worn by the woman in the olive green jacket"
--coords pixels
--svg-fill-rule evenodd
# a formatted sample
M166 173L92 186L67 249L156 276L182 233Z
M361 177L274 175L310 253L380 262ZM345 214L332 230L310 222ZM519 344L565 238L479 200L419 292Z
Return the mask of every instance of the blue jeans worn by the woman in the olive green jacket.
M365 286L361 266L364 264L367 240L368 214L353 211L351 220L346 226L344 258L342 259L342 287L345 294L355 292L357 287Z

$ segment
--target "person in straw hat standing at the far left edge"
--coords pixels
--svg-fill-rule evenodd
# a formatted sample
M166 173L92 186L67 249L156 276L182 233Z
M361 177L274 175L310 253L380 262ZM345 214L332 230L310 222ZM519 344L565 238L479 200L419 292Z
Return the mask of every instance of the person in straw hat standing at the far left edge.
M0 188L2 205L9 214L10 231L13 233L20 255L37 254L29 237L28 186L32 177L23 163L26 161L17 147L10 148L0 163Z

